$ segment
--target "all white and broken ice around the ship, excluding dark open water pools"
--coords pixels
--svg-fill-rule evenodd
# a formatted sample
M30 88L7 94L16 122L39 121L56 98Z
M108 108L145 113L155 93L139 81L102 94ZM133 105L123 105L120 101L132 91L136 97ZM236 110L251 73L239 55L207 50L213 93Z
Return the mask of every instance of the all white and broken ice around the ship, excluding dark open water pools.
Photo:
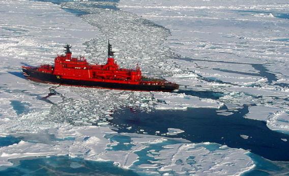
M249 151L170 138L182 129L168 129L165 136L116 133L106 120L123 107L143 111L191 107L219 110L224 105L236 109L255 104L244 118L266 121L272 130L289 131L289 21L278 18L289 8L285 1L121 1L120 11L87 6L85 11L97 14L80 17L52 3L0 4L0 135L23 138L0 148L2 166L12 165L12 158L69 155L112 161L154 175L239 175L254 167ZM236 9L242 13L237 14L233 11ZM268 13L250 12L264 9ZM151 25L151 21L161 26ZM85 55L91 63L104 63L107 39L112 41L121 67L134 68L139 63L148 76L165 76L187 89L222 92L225 96L213 100L185 93L60 86L53 88L58 95L43 99L53 85L20 76L23 64L52 63L66 43L73 46L73 54ZM265 71L257 70L254 64L263 64L276 78L268 80ZM229 118L230 112L220 113ZM49 135L75 139L51 140ZM121 143L110 140L115 135L130 137L131 148L109 150ZM144 150L155 144L162 150ZM216 149L209 150L211 145ZM142 150L157 161L134 165L139 160L135 152ZM191 160L197 164L191 164Z

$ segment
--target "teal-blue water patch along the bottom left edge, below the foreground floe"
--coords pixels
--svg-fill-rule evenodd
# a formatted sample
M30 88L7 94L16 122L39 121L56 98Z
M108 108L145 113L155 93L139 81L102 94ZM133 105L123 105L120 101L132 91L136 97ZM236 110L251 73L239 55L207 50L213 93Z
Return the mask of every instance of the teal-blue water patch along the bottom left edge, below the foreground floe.
M0 170L0 175L138 175L111 162L88 161L67 156L21 160L19 165Z

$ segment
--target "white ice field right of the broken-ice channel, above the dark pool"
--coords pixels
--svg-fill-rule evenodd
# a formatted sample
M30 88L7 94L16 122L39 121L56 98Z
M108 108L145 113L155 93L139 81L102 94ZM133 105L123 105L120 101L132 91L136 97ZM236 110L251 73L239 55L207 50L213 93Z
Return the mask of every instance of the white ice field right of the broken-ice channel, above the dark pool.
M165 44L179 55L173 62L181 70L223 83L178 75L170 80L225 92L223 103L256 104L246 118L289 130L288 2L131 0L118 7L168 28ZM276 78L268 80L254 64Z

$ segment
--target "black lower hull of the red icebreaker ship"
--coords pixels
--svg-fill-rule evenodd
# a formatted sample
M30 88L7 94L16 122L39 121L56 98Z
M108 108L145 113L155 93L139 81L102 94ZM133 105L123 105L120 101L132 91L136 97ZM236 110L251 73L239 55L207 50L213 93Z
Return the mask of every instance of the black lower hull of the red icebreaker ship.
M56 75L41 73L34 70L22 69L24 76L27 79L62 85L74 85L84 87L96 87L106 89L118 89L118 90L132 90L132 91L162 91L171 92L179 88L178 84L165 84L165 85L142 85L142 84L122 84L122 83L111 83L111 82L97 82L97 81L85 81L85 80L74 80L74 79L62 79L57 78Z

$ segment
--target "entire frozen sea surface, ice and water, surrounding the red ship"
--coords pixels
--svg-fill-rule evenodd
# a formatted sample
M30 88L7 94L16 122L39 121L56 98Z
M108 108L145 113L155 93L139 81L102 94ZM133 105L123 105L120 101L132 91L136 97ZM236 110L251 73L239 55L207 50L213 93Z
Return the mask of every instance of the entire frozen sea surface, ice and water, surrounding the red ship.
M3 174L288 173L286 2L1 4ZM138 63L181 89L97 90L21 75L66 43L104 63L107 39L121 67Z

